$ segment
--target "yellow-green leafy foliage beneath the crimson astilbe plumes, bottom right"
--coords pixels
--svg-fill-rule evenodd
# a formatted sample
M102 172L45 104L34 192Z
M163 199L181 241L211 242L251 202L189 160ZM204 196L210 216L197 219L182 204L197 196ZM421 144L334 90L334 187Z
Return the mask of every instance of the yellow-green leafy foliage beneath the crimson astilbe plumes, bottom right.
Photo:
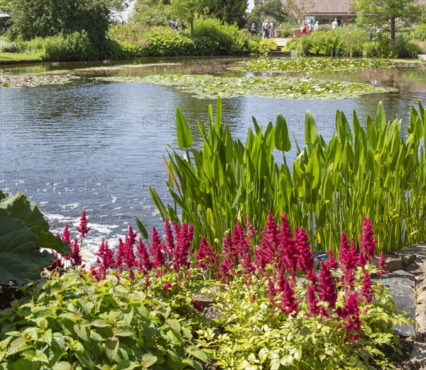
M336 271L336 276L339 274ZM357 271L358 289L363 276ZM222 331L198 330L197 342L206 348L208 356L220 369L358 370L376 369L376 366L391 369L391 361L382 352L383 347L400 351L392 325L408 320L398 312L388 288L375 285L376 295L371 305L360 304L361 337L351 342L345 340L342 318L309 316L304 280L294 285L295 298L300 299L301 306L298 315L292 317L279 308L271 309L266 297L268 279L259 279L247 286L243 277L234 278L226 288L217 288L213 297L222 314L222 319L217 320ZM342 307L344 300L344 291L340 289L337 306Z

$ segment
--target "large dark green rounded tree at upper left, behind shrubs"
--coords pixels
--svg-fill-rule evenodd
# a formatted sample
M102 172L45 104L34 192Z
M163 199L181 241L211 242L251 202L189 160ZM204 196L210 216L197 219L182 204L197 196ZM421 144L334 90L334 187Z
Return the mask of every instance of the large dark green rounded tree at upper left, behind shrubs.
M9 2L11 36L31 40L85 30L99 47L107 34L112 11L126 5L123 0L13 0Z

